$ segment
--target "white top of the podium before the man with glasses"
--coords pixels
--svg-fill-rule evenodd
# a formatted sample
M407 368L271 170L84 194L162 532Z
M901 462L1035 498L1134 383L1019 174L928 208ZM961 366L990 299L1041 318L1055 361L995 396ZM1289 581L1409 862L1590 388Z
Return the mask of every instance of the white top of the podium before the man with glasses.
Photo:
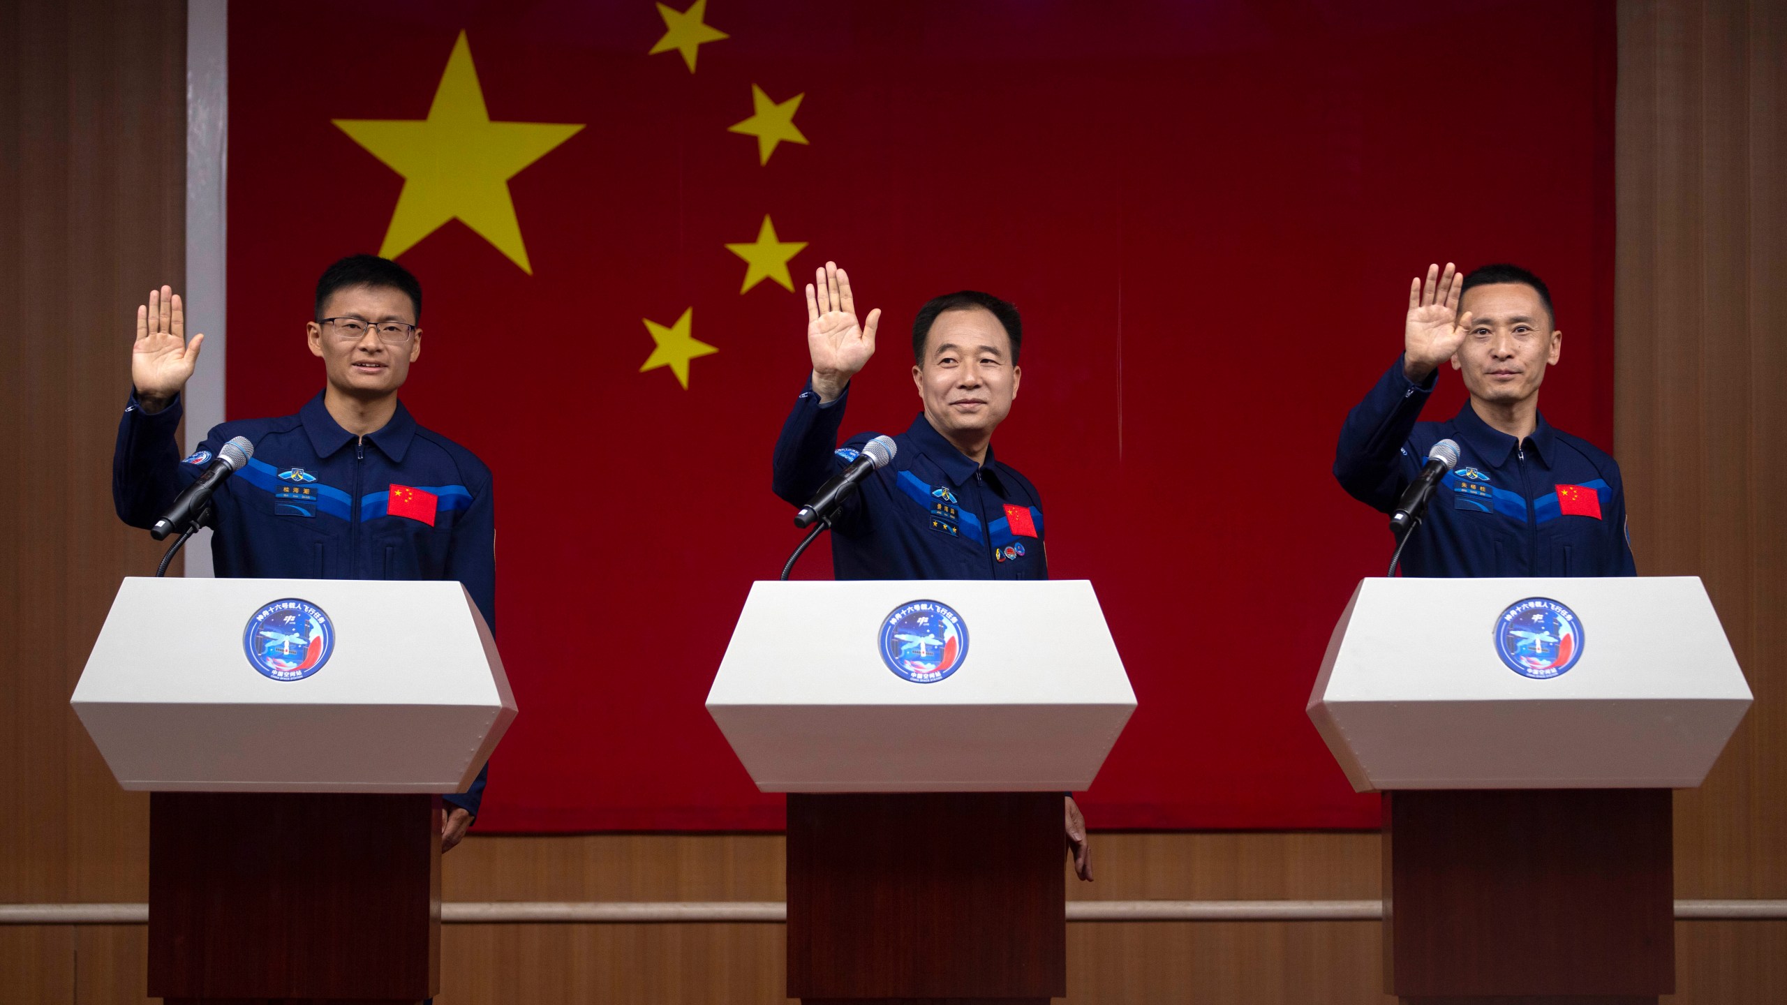
M256 792L459 792L516 712L465 587L361 579L129 578L71 705L125 789Z

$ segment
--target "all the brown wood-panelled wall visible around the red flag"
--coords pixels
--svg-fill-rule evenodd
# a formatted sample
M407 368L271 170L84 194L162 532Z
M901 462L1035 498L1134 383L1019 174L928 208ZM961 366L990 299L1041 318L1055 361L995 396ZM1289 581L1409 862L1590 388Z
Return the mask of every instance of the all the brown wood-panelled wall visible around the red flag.
M1787 14L1624 0L1615 449L1644 574L1707 579L1757 705L1676 805L1676 896L1787 896ZM184 4L0 4L0 899L147 898L147 798L68 694L123 574L130 313L180 284ZM1542 240L1542 236L1535 238ZM21 477L18 472L29 472ZM1371 898L1378 837L1097 835L1070 898ZM776 835L472 837L449 899L781 899ZM1063 862L1065 867L1065 862ZM1076 1003L1383 1001L1372 923L1072 925ZM141 928L0 928L0 1000L141 1001ZM783 1001L777 925L445 926L443 1005ZM79 975L79 976L77 976ZM1787 923L1678 923L1678 1003L1787 1001Z

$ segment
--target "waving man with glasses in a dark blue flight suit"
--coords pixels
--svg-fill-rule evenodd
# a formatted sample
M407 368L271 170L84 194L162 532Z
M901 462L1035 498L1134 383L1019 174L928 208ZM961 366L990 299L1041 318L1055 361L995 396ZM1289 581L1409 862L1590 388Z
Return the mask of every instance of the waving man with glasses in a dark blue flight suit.
M254 443L248 467L211 495L218 576L293 579L457 579L497 626L495 510L490 469L472 451L416 426L397 390L422 356L422 284L395 261L359 254L316 283L309 349L323 390L297 415L225 422L180 460L180 392L204 334L186 342L180 299L163 286L136 309L130 401L113 452L113 502L150 528L232 436ZM447 796L441 851L477 815L484 773Z

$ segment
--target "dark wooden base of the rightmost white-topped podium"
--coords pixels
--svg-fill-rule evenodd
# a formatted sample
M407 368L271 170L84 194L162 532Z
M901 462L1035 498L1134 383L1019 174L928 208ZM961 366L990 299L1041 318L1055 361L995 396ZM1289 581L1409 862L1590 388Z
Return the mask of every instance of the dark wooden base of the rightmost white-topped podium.
M1410 1005L1674 991L1667 789L1383 794L1383 984Z

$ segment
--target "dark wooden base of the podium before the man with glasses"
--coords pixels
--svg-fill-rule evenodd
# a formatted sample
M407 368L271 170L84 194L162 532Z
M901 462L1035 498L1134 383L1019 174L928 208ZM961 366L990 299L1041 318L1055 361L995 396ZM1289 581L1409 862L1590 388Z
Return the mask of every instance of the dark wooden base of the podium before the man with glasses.
M348 1005L432 996L438 808L429 794L150 794L150 998Z

